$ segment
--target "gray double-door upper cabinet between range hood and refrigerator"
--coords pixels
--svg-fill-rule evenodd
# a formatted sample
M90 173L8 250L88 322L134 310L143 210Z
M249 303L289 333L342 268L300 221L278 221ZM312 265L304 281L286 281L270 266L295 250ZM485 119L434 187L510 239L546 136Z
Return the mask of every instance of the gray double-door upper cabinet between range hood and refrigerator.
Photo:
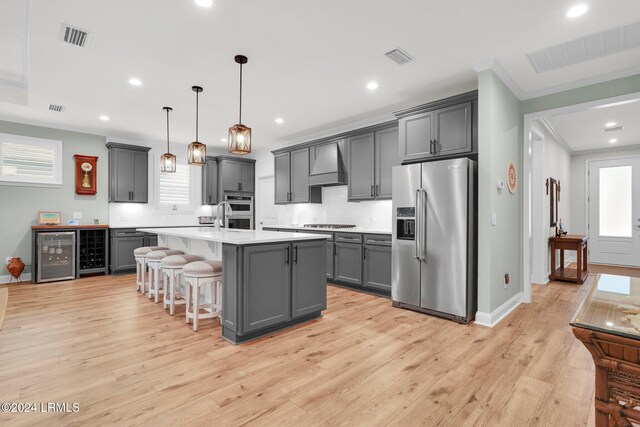
M391 198L391 171L398 161L398 128L391 127L349 138L348 199Z

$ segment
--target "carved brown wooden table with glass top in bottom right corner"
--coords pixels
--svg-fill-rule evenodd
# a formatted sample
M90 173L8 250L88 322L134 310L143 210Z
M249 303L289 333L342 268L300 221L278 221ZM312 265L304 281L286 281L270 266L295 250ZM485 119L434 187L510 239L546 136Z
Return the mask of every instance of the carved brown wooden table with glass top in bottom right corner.
M640 278L602 274L570 322L595 364L597 427L640 423L640 326L634 326L635 313L640 313Z

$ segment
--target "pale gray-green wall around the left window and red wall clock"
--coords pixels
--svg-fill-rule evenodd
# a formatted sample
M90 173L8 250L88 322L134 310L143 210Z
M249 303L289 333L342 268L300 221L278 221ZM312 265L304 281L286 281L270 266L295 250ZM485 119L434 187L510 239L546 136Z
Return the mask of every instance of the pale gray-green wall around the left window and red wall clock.
M19 256L31 264L31 225L38 222L39 210L62 212L66 224L73 212L82 212L81 224L92 223L94 218L107 223L107 149L105 137L70 132L39 126L0 121L0 133L62 141L62 187L26 187L0 185L0 275L6 275L5 257ZM74 154L98 156L98 193L95 196L75 194Z

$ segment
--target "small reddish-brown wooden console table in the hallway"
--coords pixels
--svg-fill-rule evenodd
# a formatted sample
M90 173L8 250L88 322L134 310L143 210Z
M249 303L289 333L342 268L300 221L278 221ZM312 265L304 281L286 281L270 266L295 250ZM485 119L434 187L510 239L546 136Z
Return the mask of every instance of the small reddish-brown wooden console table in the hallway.
M588 236L566 235L549 237L551 244L551 274L550 280L561 280L583 284L589 274L588 264ZM560 267L556 268L556 250L560 250ZM576 251L577 268L565 268L564 251Z

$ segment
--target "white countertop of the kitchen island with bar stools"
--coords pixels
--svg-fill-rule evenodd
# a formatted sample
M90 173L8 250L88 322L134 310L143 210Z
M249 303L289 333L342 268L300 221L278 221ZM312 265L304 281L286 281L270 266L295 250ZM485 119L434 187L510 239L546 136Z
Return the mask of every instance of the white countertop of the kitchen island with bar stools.
M232 245L253 245L257 243L278 243L297 240L326 240L326 234L287 233L279 231L258 230L225 230L215 231L212 227L188 228L138 228L146 233L164 236L184 237L188 239L207 240L210 242L228 243Z

